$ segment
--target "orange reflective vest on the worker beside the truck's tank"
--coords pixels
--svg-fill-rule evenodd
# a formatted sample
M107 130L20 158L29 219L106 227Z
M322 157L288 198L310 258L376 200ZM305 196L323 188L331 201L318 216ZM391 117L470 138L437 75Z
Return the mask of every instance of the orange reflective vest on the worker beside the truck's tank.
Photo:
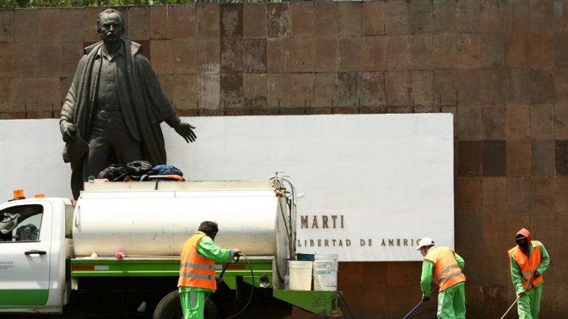
M215 262L197 253L197 245L205 236L198 231L181 246L178 287L217 289Z

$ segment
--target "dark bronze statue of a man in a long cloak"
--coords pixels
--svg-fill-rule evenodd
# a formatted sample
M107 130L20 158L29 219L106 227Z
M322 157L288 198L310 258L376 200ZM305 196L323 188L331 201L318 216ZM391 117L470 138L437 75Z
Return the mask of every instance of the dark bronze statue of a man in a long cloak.
M140 45L121 39L122 14L102 11L96 29L102 41L84 49L59 121L75 198L83 182L110 163L165 164L161 122L188 143L196 139L195 127L179 119Z

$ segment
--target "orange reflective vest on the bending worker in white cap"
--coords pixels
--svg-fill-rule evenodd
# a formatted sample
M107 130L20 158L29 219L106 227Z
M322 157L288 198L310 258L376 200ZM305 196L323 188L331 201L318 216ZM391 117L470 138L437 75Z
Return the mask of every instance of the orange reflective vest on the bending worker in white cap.
M465 281L465 275L457 264L452 248L434 246L428 250L424 260L434 263L434 283L439 285L440 291Z

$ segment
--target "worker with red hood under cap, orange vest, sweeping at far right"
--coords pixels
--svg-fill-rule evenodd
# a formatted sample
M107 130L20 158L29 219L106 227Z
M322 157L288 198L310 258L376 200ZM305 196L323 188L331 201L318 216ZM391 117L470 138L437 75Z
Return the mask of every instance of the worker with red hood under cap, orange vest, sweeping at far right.
M517 232L516 246L509 249L511 279L514 290L520 296L517 303L519 319L538 319L542 295L542 274L547 270L550 258L546 248L531 233L522 228Z

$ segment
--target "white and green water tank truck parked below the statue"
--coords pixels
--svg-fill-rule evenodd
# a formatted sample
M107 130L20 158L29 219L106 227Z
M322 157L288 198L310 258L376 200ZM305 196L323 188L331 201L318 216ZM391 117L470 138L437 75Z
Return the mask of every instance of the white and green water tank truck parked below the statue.
M0 315L179 319L179 249L201 221L216 221L216 243L246 259L226 265L206 318L249 304L247 313L270 318L284 318L292 305L342 318L339 292L285 286L296 255L296 194L287 178L85 183L76 202L20 195L0 204Z

